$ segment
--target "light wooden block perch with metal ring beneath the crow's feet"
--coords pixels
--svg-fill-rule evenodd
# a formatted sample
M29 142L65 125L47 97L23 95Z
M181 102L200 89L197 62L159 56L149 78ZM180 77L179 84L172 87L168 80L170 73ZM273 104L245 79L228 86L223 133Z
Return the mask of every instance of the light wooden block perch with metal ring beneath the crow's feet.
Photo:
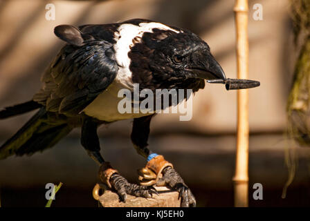
M117 193L111 191L104 184L96 184L93 189L93 198L98 200L101 207L180 207L181 198L179 193L167 189L165 186L154 186L158 195L153 194L152 198L140 198L127 194L126 202L120 202L120 198ZM102 189L104 193L99 195L99 191Z

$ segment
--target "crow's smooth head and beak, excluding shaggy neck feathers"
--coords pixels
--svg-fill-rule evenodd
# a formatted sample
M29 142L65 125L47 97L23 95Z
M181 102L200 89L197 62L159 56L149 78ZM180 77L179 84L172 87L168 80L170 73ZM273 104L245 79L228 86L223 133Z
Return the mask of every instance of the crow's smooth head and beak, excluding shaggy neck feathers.
M158 42L154 56L158 67L162 65L174 77L226 79L208 44L192 33L175 33Z

